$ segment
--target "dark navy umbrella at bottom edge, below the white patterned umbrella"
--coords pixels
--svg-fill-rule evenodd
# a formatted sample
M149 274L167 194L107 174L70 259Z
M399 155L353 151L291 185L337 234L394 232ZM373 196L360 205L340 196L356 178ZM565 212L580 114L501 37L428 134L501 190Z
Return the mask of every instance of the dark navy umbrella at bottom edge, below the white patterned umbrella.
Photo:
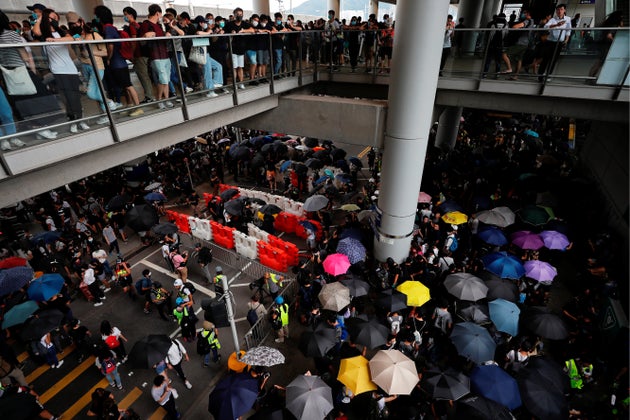
M234 420L247 413L258 397L258 380L249 373L223 378L208 396L208 411L216 420Z

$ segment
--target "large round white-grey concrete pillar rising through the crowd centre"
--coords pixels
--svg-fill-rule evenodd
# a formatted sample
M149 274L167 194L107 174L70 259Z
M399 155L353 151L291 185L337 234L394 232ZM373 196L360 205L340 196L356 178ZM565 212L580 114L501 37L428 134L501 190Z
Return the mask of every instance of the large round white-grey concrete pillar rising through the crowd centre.
M374 255L409 255L449 0L399 0ZM417 48L422 45L423 48Z

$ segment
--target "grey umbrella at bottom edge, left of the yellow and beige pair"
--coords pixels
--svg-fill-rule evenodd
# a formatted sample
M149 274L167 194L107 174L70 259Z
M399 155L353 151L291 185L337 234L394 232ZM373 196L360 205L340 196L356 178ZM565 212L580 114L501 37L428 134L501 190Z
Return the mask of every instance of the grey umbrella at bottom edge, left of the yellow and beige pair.
M319 376L300 375L287 385L286 407L300 420L322 420L333 409L332 390Z

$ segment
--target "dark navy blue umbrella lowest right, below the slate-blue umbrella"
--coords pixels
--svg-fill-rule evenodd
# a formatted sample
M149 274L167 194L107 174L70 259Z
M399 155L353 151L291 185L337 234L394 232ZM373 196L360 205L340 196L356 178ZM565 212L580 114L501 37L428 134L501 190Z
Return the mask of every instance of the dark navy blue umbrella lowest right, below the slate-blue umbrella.
M516 379L497 365L477 366L470 375L473 392L498 402L510 410L522 405Z

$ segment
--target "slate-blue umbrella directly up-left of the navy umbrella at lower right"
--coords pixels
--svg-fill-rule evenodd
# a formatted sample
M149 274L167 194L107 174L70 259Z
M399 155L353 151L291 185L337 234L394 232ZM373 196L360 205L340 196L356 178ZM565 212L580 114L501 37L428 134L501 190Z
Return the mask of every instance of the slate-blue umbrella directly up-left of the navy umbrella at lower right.
M496 343L488 330L472 322L455 324L451 333L451 341L455 344L460 356L475 363L483 363L494 359Z

